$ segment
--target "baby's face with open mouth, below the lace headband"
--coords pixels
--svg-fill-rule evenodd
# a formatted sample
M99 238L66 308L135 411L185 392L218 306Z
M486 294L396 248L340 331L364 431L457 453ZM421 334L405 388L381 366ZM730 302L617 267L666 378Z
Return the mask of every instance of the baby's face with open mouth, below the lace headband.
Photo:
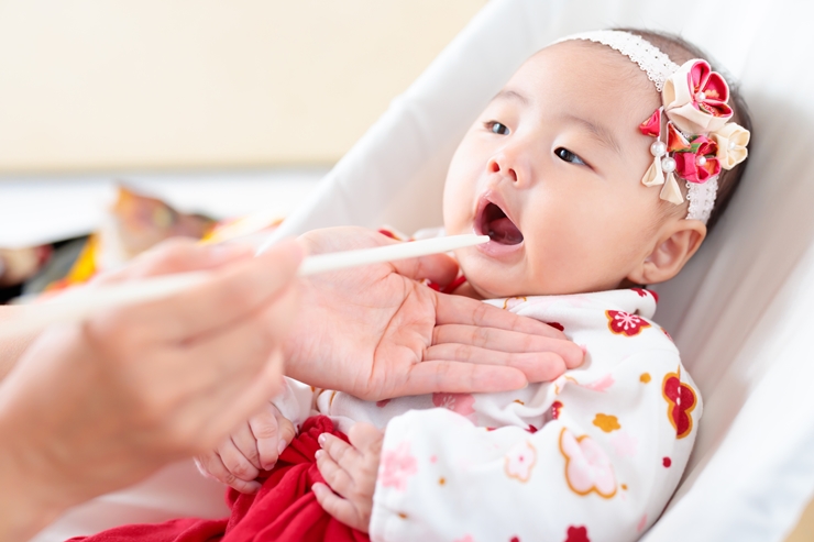
M641 177L660 104L647 76L603 45L565 42L529 58L458 147L444 189L448 234L484 298L612 289L653 251L663 211Z

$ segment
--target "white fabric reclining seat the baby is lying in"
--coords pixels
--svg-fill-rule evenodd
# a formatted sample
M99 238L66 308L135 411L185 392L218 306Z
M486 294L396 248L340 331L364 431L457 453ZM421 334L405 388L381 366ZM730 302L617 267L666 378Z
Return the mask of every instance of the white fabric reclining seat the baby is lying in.
M802 0L494 0L277 235L441 224L455 146L529 55L584 30L680 33L741 82L755 131L749 169L726 215L681 275L656 288L657 319L679 344L705 408L684 480L642 540L784 540L814 494L814 174L806 167L814 70L804 62L814 51L812 11ZM221 495L189 465L175 465L78 507L37 540L218 516Z

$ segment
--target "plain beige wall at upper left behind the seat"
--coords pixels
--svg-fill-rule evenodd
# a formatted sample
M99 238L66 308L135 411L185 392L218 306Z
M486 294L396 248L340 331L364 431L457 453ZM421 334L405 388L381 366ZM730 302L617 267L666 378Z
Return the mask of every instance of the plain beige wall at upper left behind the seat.
M337 161L485 0L0 0L0 174Z

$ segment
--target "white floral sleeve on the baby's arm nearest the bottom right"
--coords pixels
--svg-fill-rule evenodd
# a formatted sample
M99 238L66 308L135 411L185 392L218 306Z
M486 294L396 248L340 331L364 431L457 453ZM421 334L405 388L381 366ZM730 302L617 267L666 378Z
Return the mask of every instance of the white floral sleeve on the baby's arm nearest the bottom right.
M444 409L394 418L372 540L637 539L681 478L701 408L674 351L636 354L609 375L593 388L562 380L556 419L536 432Z

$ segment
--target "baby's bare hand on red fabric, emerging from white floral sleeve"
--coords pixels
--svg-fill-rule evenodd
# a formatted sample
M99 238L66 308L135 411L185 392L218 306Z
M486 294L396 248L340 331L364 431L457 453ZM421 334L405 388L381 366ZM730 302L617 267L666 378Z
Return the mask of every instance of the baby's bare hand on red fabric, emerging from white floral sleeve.
M317 466L330 488L314 484L314 495L324 511L367 532L384 433L370 423L355 423L348 436L351 445L332 434L319 436L322 450L317 452Z

